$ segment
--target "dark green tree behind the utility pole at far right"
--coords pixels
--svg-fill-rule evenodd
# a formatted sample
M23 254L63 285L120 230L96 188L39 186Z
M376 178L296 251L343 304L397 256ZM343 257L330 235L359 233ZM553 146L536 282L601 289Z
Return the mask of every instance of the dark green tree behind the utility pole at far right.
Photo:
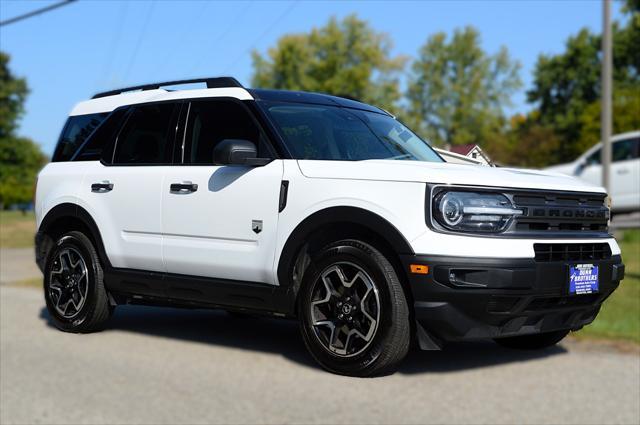
M613 126L615 132L638 129L640 90L640 2L628 0L626 22L613 25ZM560 139L553 162L570 161L599 140L601 37L582 29L567 40L565 51L540 55L528 101L536 122ZM617 106L616 106L617 105ZM624 109L629 107L632 109Z

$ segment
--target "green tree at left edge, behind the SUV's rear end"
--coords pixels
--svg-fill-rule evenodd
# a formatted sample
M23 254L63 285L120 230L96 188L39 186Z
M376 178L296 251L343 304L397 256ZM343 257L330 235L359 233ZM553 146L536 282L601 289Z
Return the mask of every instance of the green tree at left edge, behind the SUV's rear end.
M39 145L15 134L27 93L26 81L11 73L9 56L0 52L0 209L31 200L36 174L47 161Z

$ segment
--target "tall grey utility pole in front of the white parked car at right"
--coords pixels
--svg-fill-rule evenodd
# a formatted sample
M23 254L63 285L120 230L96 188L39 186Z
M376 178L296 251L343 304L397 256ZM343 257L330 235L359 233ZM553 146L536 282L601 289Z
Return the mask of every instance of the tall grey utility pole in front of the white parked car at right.
M602 186L611 193L611 0L602 0Z

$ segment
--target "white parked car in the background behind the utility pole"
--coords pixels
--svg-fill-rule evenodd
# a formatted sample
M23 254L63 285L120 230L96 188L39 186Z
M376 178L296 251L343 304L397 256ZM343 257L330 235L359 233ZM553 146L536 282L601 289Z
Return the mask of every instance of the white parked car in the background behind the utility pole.
M547 168L576 176L594 185L602 184L602 143L598 143L568 164ZM640 210L640 131L611 138L611 210L615 213Z

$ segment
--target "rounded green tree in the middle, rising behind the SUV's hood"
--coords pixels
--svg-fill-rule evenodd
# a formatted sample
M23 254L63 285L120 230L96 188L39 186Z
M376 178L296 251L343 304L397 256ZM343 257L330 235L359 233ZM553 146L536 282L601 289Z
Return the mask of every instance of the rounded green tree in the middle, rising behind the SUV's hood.
M487 147L503 132L503 108L521 86L520 65L505 47L490 55L472 27L448 40L436 33L413 63L403 118L433 143Z

